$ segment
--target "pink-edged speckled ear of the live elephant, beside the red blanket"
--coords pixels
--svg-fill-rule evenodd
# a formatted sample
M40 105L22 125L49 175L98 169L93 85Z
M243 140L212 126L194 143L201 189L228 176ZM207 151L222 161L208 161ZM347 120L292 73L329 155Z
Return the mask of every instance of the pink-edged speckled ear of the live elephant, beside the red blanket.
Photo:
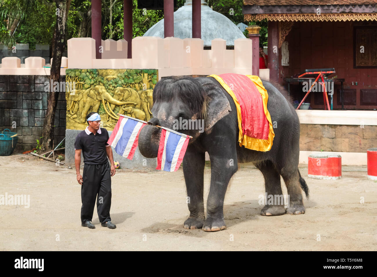
M228 98L224 95L222 89L213 83L204 83L201 85L204 90L205 97L205 118L204 131L210 133L213 125L216 124L224 116L231 112Z

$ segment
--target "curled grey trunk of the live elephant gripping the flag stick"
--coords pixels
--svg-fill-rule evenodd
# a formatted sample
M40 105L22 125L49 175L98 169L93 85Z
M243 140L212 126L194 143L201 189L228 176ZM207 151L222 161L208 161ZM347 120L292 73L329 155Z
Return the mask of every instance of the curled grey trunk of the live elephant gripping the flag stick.
M149 122L154 122L152 118ZM158 120L157 120L158 121ZM146 158L156 158L161 137L160 128L153 125L146 125L139 133L139 151Z

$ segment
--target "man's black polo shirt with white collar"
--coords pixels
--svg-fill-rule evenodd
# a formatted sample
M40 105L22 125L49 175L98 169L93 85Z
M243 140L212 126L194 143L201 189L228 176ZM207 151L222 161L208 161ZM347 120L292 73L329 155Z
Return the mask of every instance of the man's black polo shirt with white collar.
M89 131L88 127L79 133L75 140L75 150L82 149L84 164L104 164L107 162L106 147L109 133L105 128L97 130L96 135Z

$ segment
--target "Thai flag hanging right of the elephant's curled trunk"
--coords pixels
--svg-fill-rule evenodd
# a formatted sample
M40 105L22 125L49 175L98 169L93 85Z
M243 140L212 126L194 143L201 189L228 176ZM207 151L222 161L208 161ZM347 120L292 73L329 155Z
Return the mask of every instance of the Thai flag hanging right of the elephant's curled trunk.
M181 136L168 130L161 130L156 169L177 171L185 156L189 136Z

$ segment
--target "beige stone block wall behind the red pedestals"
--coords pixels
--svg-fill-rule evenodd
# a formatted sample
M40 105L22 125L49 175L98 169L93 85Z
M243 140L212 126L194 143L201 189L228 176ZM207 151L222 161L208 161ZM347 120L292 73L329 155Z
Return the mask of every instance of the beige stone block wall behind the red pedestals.
M377 125L300 124L301 151L366 153L377 147Z

